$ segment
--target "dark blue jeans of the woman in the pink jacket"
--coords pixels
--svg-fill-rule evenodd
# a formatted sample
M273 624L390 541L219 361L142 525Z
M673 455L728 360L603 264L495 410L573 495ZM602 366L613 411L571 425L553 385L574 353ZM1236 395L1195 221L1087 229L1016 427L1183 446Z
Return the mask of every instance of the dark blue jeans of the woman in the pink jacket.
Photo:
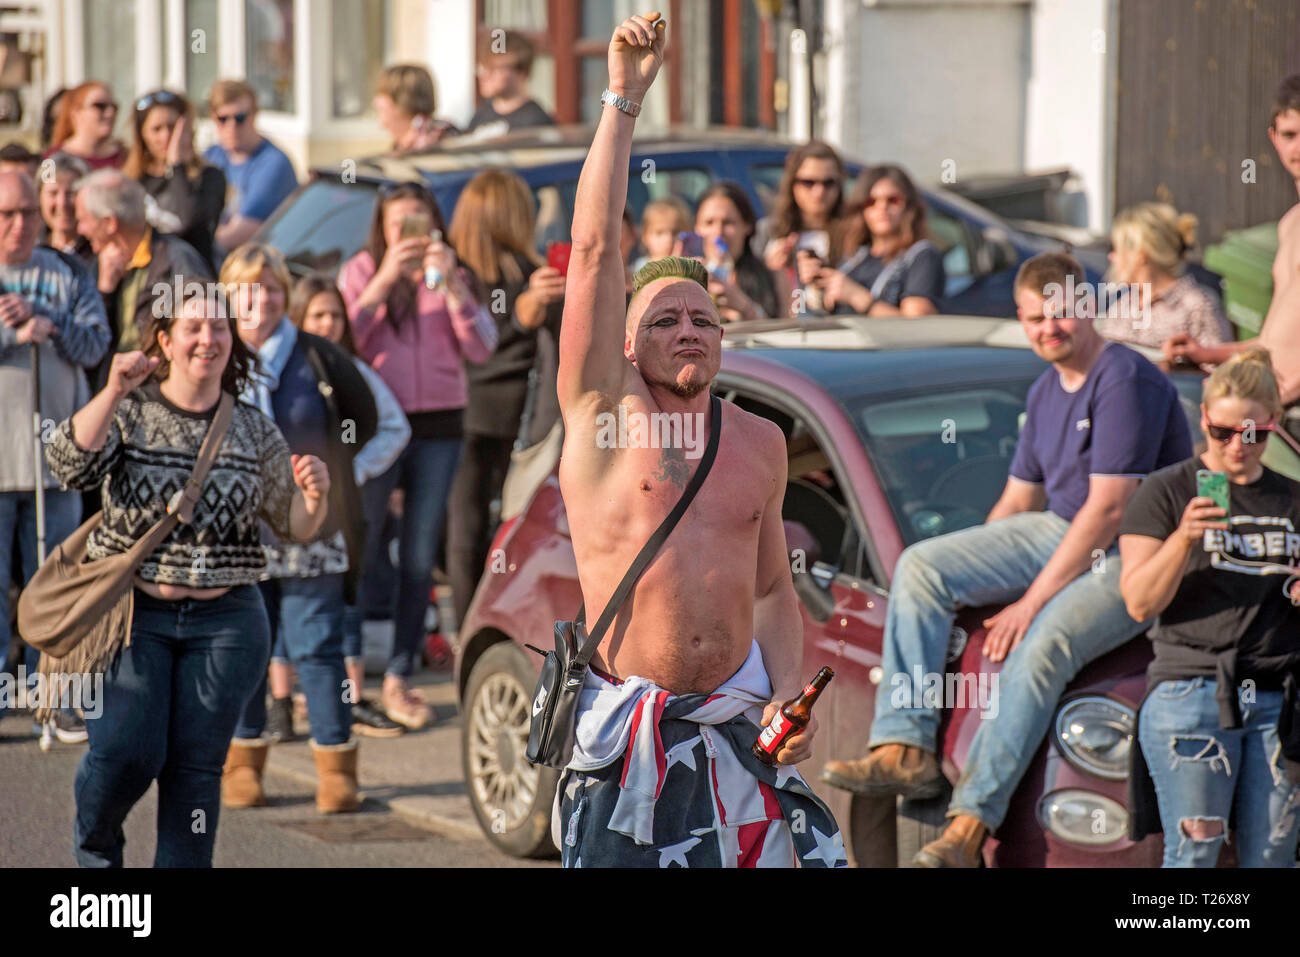
M385 670L395 677L407 679L415 672L420 641L424 637L424 616L429 610L429 592L433 589L433 562L438 554L447 495L451 493L451 480L460 462L460 449L459 438L412 438L402 458L387 472L368 481L361 490L367 501L367 512L370 511L372 502L384 502L386 508L393 489L400 488L406 493L398 538L393 655ZM363 594L373 594L377 589L385 596L389 594L386 590L389 583L385 577L389 563L382 551L382 521L376 521L370 524L367 534L367 583ZM385 599L384 605L387 603ZM358 620L358 636L359 633Z

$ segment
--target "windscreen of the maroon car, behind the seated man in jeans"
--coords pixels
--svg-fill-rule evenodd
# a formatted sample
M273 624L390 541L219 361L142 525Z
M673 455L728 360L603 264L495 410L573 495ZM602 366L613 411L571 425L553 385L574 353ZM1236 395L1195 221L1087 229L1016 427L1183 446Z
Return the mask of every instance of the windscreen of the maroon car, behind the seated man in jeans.
M1032 376L846 403L904 544L984 521L1006 485Z

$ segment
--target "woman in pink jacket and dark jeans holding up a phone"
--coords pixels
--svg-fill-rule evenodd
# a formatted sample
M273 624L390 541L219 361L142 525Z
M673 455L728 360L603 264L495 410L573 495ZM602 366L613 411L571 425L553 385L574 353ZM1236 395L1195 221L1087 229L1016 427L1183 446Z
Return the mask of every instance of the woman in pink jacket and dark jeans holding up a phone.
M393 655L381 703L389 718L408 728L433 720L432 709L408 683L460 460L464 361L485 361L497 346L497 324L473 291L478 281L458 263L443 239L446 229L428 189L413 182L389 186L374 204L365 247L338 276L356 347L398 397L411 425L402 458L368 485L368 494L381 501L396 488L403 493ZM391 580L381 570L381 542L382 534L372 531L363 594L381 593L374 603L390 606Z

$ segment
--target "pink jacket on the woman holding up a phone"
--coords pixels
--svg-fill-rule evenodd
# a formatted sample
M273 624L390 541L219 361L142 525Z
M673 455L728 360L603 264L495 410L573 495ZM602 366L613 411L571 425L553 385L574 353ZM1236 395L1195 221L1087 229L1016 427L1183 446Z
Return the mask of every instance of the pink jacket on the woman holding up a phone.
M481 363L497 347L497 324L486 307L465 303L451 312L446 296L421 282L416 285L416 317L396 332L386 319L386 306L356 308L374 272L374 260L363 250L338 274L361 358L380 373L404 412L464 408L463 360Z

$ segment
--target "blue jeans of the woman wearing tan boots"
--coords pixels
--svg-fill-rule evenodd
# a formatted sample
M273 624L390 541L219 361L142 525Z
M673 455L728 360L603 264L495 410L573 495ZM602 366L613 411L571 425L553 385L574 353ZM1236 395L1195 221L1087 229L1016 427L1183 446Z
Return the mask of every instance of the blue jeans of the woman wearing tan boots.
M287 653L307 694L307 716L316 744L344 744L352 705L343 671L343 576L270 579L261 583L270 620L272 648ZM266 668L244 705L235 737L261 737L266 729Z

